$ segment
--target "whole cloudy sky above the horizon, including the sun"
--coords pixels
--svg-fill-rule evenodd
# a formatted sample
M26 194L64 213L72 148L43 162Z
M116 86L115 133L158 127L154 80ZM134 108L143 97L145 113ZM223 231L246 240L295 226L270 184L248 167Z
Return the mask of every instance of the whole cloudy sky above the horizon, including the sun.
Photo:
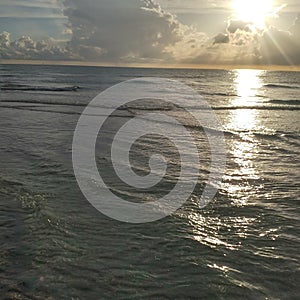
M300 66L300 1L1 0L0 60Z

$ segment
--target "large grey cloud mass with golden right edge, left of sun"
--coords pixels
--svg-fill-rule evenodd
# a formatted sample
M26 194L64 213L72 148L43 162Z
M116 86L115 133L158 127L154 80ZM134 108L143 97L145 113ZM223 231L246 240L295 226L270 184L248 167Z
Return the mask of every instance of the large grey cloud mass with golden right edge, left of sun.
M168 60L166 48L188 28L152 0L67 0L73 36L69 46L83 59L91 52L108 61Z

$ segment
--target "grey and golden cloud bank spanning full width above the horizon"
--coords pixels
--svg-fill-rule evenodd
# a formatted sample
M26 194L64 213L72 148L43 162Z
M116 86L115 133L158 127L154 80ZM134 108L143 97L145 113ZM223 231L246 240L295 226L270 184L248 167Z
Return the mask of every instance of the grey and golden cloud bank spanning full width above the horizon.
M229 20L223 31L209 37L183 24L152 0L65 0L64 3L68 22L63 32L71 36L69 41L65 44L50 38L34 41L29 36L11 41L10 34L3 32L0 58L300 65L300 16L286 31L275 27L259 30L251 23Z

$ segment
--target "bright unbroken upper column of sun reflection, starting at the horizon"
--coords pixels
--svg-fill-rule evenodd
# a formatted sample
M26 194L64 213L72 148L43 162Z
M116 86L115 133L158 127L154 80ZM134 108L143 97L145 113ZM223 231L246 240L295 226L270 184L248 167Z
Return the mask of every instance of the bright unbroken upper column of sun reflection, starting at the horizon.
M258 141L254 132L260 127L258 111L251 108L258 104L259 90L263 86L263 71L238 70L235 76L237 97L231 100L234 108L228 116L226 129L237 132L229 144L231 164L224 177L224 189L238 206L245 206L258 186L253 183L260 179L255 159L258 155Z

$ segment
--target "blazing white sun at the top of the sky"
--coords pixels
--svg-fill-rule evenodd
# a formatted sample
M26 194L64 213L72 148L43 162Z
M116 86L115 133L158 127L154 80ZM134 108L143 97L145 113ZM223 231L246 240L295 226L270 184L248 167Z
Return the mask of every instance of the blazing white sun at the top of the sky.
M233 0L235 17L264 28L266 19L274 13L273 0Z

